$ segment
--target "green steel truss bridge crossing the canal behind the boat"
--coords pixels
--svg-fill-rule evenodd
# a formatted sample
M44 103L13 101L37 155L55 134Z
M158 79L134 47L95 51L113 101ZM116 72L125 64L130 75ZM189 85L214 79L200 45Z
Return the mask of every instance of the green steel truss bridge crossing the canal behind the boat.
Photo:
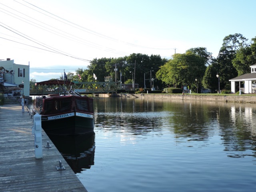
M116 93L120 89L119 82L72 82L66 84L66 90L74 90L80 94ZM64 84L45 84L35 86L30 83L30 95L59 94L64 91Z

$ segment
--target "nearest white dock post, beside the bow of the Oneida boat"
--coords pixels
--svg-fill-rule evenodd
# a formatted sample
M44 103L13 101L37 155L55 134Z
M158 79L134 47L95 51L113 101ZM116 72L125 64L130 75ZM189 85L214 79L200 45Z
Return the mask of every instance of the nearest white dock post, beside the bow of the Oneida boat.
M32 127L32 134L34 133L35 138L35 158L43 158L43 149L42 149L42 123L41 115L34 115L34 126Z

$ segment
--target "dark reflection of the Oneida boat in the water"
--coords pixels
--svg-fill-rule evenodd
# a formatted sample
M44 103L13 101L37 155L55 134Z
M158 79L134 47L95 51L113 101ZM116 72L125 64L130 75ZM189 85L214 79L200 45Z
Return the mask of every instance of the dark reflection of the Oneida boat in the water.
M76 136L50 135L49 138L75 173L94 165L94 132Z

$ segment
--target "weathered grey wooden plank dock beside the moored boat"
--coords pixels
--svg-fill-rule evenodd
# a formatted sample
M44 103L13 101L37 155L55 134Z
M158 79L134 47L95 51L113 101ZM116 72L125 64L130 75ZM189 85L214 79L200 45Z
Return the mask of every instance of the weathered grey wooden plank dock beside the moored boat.
M87 192L44 130L43 158L35 158L32 126L20 104L0 108L0 192ZM44 147L47 141L52 148ZM66 170L56 169L59 160Z

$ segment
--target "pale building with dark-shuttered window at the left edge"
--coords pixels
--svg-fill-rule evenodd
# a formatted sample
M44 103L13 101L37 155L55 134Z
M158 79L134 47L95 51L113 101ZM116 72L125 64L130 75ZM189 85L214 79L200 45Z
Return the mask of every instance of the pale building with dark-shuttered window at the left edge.
M3 82L10 84L24 84L22 94L29 96L29 70L30 66L15 64L14 60L7 58L0 61L0 76L3 78Z

